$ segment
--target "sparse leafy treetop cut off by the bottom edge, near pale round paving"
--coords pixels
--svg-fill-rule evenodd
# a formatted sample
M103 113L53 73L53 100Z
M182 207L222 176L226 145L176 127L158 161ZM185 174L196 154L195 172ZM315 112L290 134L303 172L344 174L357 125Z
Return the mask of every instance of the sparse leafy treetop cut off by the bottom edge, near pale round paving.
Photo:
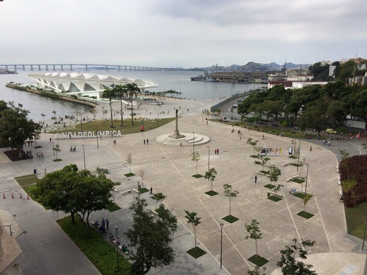
M315 271L310 270L312 265L297 260L297 258L302 260L307 258L308 252L304 248L313 246L315 241L301 240L299 245L297 245L297 239L293 239L293 242L294 245L286 245L286 249L280 250L281 256L277 266L281 268L281 272L284 275L317 275Z

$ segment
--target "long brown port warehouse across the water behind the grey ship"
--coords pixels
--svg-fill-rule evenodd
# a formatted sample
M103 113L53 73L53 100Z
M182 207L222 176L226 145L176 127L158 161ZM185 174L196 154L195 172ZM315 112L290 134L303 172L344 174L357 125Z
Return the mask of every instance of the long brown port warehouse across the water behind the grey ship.
M255 71L255 72L212 72L210 77L224 82L258 82L268 83L269 74L279 71Z

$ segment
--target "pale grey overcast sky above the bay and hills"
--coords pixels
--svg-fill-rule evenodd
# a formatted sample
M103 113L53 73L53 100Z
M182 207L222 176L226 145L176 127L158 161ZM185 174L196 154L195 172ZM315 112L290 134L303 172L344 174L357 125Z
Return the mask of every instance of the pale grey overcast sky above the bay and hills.
M1 64L367 58L366 0L4 0L0 19Z

